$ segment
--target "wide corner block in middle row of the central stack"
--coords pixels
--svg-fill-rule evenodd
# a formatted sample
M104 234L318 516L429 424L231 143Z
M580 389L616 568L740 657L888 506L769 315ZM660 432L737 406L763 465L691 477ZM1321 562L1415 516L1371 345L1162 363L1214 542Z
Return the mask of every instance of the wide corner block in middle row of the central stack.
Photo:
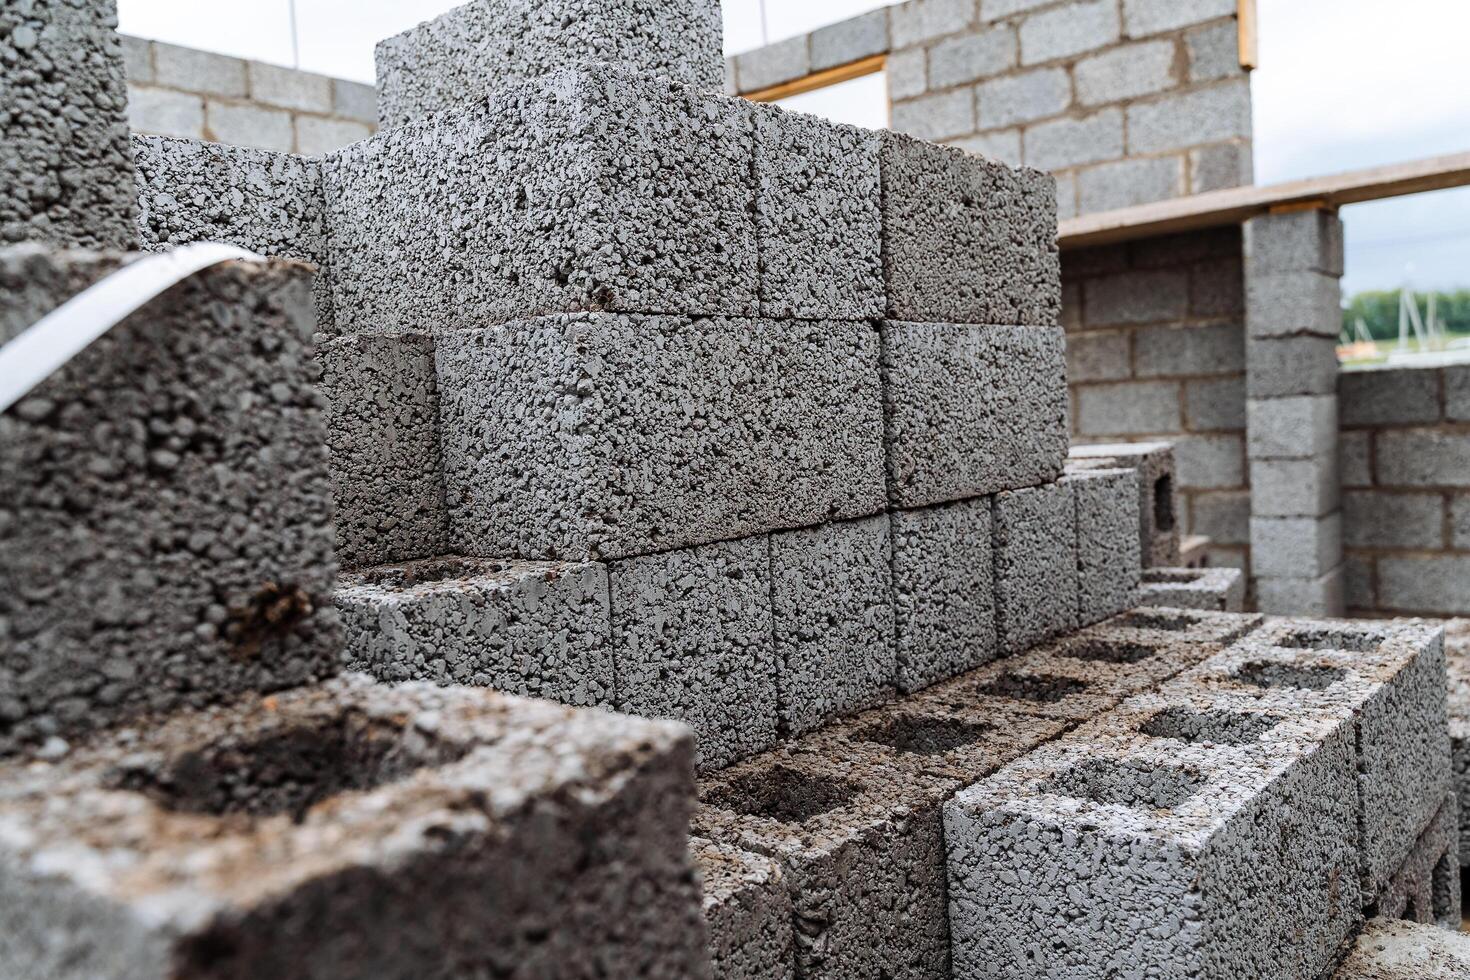
M612 560L883 508L866 323L597 313L437 339L454 551Z

